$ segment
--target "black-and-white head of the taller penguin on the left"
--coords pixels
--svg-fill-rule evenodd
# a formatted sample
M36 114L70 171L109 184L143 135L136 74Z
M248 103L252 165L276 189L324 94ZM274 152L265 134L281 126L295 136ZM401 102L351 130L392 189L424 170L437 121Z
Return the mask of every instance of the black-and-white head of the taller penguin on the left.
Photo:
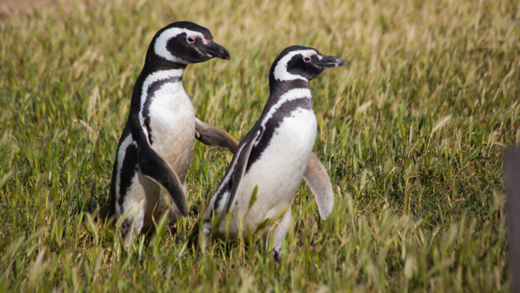
M229 60L229 52L213 41L211 32L196 23L177 21L159 30L148 47L147 62L188 65L211 58Z

